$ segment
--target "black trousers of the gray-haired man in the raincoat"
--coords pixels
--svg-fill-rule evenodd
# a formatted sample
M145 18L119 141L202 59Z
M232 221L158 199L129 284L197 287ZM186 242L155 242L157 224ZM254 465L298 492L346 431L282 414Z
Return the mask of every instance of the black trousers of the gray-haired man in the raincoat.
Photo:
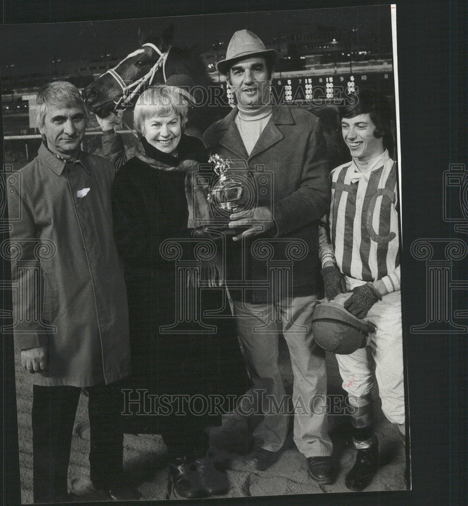
M88 387L90 478L99 489L123 479L120 382ZM32 451L34 502L64 500L71 437L81 388L33 386Z

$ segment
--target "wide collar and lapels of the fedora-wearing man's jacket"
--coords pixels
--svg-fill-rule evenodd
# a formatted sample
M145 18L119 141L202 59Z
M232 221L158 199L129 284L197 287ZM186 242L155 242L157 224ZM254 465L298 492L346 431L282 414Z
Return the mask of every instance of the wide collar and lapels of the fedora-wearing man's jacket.
M250 159L281 141L284 138L284 135L278 126L294 124L294 119L292 118L289 107L274 106L272 108L270 121L265 126L265 129L261 133L257 144L253 147L252 152L248 155L234 122L237 111L237 107L234 107L234 109L226 117L215 123L212 135L217 137L217 142L220 145L230 151L233 151L244 159Z

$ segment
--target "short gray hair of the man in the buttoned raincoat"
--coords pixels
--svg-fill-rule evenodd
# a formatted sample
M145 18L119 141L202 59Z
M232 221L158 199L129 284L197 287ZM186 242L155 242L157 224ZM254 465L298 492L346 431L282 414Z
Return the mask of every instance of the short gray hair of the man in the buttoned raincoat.
M78 88L68 81L49 82L43 86L36 97L36 122L38 128L43 128L48 107L82 109L88 119L89 110Z

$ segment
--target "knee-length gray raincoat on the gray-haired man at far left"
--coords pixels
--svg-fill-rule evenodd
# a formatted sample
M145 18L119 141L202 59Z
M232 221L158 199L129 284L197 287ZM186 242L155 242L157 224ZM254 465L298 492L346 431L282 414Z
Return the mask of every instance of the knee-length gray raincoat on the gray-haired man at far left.
M43 145L7 178L13 332L19 349L49 345L36 385L88 387L130 374L125 282L113 238L115 169Z

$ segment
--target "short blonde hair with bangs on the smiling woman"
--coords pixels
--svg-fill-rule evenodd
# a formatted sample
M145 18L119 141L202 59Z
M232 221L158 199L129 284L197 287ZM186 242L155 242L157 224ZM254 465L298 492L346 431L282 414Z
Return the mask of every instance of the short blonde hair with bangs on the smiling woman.
M156 86L143 92L135 104L133 112L134 125L137 133L144 135L145 121L154 116L179 114L182 129L187 122L190 103L174 86Z

